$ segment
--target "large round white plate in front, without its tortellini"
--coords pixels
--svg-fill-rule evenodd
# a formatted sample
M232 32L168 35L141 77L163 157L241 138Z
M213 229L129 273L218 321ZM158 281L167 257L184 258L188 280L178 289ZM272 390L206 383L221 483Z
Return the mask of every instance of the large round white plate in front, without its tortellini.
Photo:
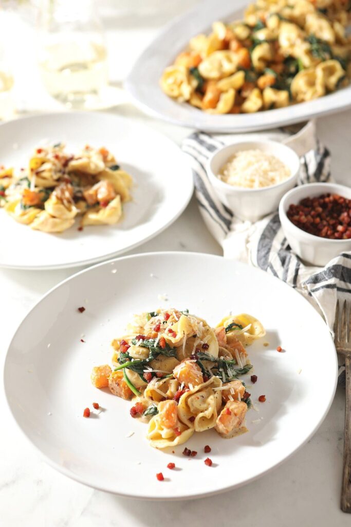
M90 380L93 366L111 364L111 340L123 335L133 314L165 306L188 308L211 325L229 311L250 313L267 330L248 348L258 377L251 385L251 374L244 376L257 408L247 413L249 431L230 440L214 430L195 433L186 443L198 452L190 460L182 455L185 445L149 446L147 425L129 415L132 404ZM322 423L336 378L332 337L307 300L258 269L186 252L119 258L65 280L24 319L5 363L11 411L49 464L97 489L153 500L234 489L282 463ZM103 411L85 419L93 402ZM212 467L204 464L208 455ZM169 462L177 470L167 469ZM158 472L165 481L157 481Z

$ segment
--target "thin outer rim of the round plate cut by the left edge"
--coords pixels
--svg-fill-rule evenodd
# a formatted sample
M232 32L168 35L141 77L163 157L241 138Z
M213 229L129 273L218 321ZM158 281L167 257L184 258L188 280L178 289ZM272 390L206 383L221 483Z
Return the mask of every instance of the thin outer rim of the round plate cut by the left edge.
M148 126L146 123L143 123L143 122L139 122L139 121L135 121L133 119L129 119L129 118L127 118L124 115L115 115L115 114L110 113L110 112L102 112L102 111L101 112L98 112L98 111L84 112L84 111L79 111L79 110L77 110L77 111L40 112L40 113L36 113L36 114L33 114L33 115L25 115L23 117L21 116L18 119L11 119L9 121L1 122L0 123L0 130L2 130L3 126L6 126L6 125L8 125L10 123L17 122L17 121L19 121L21 123L24 120L36 120L36 119L41 119L41 118L51 119L51 118L55 118L58 115L59 116L65 116L66 114L68 114L68 115L84 115L84 116L92 115L93 118L96 115L104 115L108 119L111 118L111 119L117 119L117 120L122 120L122 121L133 121L133 124L136 124L138 127L145 128L145 130L152 130L156 135L162 136L163 139L165 139L167 142L169 142L169 144L174 145L179 150L179 152L178 152L179 153L179 159L183 159L183 161L184 161L184 168L187 168L187 170L189 172L188 173L188 178L186 178L186 180L188 181L188 187L184 186L185 199L184 199L184 202L182 204L182 207L178 208L177 213L174 214L172 216L172 218L168 222L166 222L161 227L157 228L150 235L148 235L145 238L143 238L143 240L136 241L135 243L132 243L131 245L128 245L128 247L125 247L123 249L117 249L115 251L108 252L104 256L89 258L89 259L85 259L85 260L79 260L79 261L76 261L76 262L66 262L65 264L39 265L39 266L37 266L37 265L21 265L21 264L18 264L18 265L3 264L0 261L0 268L1 269L17 269L17 270L26 270L26 271L32 271L32 270L33 271L38 271L38 270L42 270L42 271L45 270L46 271L46 270L58 270L58 269L71 269L71 268L74 268L74 267L91 266L92 264L97 264L97 263L101 263L101 262L103 262L105 260L110 260L110 259L112 259L112 258L114 258L114 257L116 257L118 255L122 255L123 253L125 253L127 251L133 250L136 247L139 247L139 246L143 245L143 243L146 243L147 241L155 238L161 232L163 232L168 227L170 227L181 216L181 214L183 214L183 212L187 208L190 200L193 197L193 194L194 194L194 178L193 178L192 169L191 169L189 163L187 162L186 156L185 156L184 152L182 151L182 149L179 147L179 145L175 141L173 141L171 138L169 138L168 135L163 134L162 132L159 132L157 129L153 128L152 126ZM0 212L4 212L4 211L0 209Z

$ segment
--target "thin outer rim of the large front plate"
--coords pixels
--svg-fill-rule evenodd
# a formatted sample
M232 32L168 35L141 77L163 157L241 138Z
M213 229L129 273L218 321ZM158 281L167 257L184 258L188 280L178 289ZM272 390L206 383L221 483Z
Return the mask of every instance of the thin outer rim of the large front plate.
M217 495L217 494L223 494L225 492L233 491L234 489L238 489L239 487L242 487L242 486L247 485L247 484L249 484L249 483L251 483L253 481L256 481L260 477L263 477L265 474L268 474L269 472L272 472L278 466L280 466L283 463L285 463L289 458L291 458L293 455L295 455L304 445L306 445L306 443L310 440L310 438L312 438L315 435L315 433L319 429L320 425L322 425L322 423L324 422L324 420L325 420L325 418L326 418L326 416L327 416L327 414L329 412L329 409L332 406L332 403L334 401L336 387L337 387L337 379L338 379L338 360L337 360L336 351L335 351L335 355L334 355L334 363L335 363L334 385L332 386L332 383L330 383L330 388L331 389L330 389L329 402L328 402L328 404L327 404L327 406L326 406L326 408L325 408L325 410L323 412L322 417L320 417L318 423L315 425L313 430L310 431L310 433L304 438L304 440L298 446L296 446L292 450L292 452L290 452L287 456L285 456L282 460L278 461L274 465L269 466L263 472L260 472L259 474L256 474L256 475L254 475L252 477L249 477L249 479L247 479L247 480L245 480L243 482L235 483L233 485L227 485L226 487L223 487L222 489L217 489L215 491L202 492L200 494L192 494L192 495L186 495L186 496L172 496L172 497L167 496L167 497L164 497L162 495L159 495L159 496L151 496L151 495L142 496L142 495L135 495L135 494L126 494L126 493L122 493L122 492L118 492L116 490L113 490L109 486L94 485L93 483L87 482L86 480L84 480L83 477L81 477L81 476L69 471L68 469L66 469L66 467L64 467L62 465L59 465L55 461L51 460L51 458L48 455L44 454L42 452L42 450L32 441L32 439L27 436L25 430L19 424L19 422L17 421L17 419L16 419L16 417L15 417L15 415L13 413L12 406L11 406L11 403L10 403L11 396L8 393L8 389L6 389L6 386L7 386L6 385L7 363L8 363L8 360L9 360L9 355L11 353L11 347L12 347L13 341L15 340L19 330L21 330L21 327L22 327L24 321L32 314L32 311L34 311L41 304L41 302L43 302L46 299L46 297L51 295L56 289L58 289L59 287L63 286L64 284L66 284L68 281L74 280L77 276L82 275L82 274L84 274L86 272L89 272L90 270L94 270L94 269L96 269L98 267L102 267L102 266L105 266L105 265L106 266L107 265L111 265L112 263L114 263L116 261L120 261L120 260L145 258L145 257L146 258L150 258L150 257L155 257L155 256L159 257L159 256L163 256L163 255L168 255L168 256L175 256L175 255L184 256L184 255L187 255L187 256L200 256L200 257L205 257L205 258L214 259L214 260L218 260L218 259L228 260L227 258L224 258L223 256L213 255L212 253L204 253L204 252L195 252L195 251L150 251L150 252L145 252L145 253L136 253L134 255L126 255L126 256L122 256L122 257L113 258L111 260L107 260L107 261L104 261L104 262L99 262L98 264L96 264L94 266L88 267L86 269L82 269L81 271L78 271L75 274L65 278L64 280L62 280L58 284L56 284L54 287L49 289L46 292L45 295L43 295L41 298L39 298L39 300L37 302L35 302L35 304L32 306L31 309L29 309L28 313L23 317L23 319L19 323L17 329L15 330L15 332L14 332L14 334L13 334L13 336L12 336L12 338L11 338L9 344L8 344L8 347L7 347L7 350L6 350L6 354L5 354L4 366L3 366L3 374L2 374L2 389L3 389L3 393L5 395L5 402L6 402L6 405L7 405L7 409L9 411L9 414L11 415L11 418L13 419L13 422L16 424L17 430L21 431L22 436L24 436L26 438L26 441L29 444L32 445L32 447L35 449L35 451L39 454L39 457L43 461L45 461L45 463L47 463L49 466L51 466L53 469L55 469L57 472L69 477L69 479L72 479L72 480L74 480L74 481L76 481L78 483L82 483L83 485L85 485L87 487L90 487L92 489L96 489L96 490L99 490L99 491L107 492L109 494L113 494L113 495L116 495L116 496L126 497L128 499L136 499L136 500L143 500L143 501L154 501L154 502L159 502L159 501L188 501L188 500L200 499L200 498L207 497L207 496L214 496L214 495ZM270 278L275 278L275 279L279 280L278 278L274 277L273 275L267 275L267 272L265 272L263 269L259 269L257 267L249 266L248 264L244 264L243 262L240 262L238 260L232 260L232 261L234 261L234 263L237 264L239 267L250 268L254 272L256 272L257 274L261 274L261 276L270 276ZM286 282L283 282L282 280L279 280L279 282L280 282L280 284L283 285L283 287L288 288L289 290L294 290L294 288L289 286ZM296 292L296 295L299 295L300 299L302 299L307 305L309 305L310 309L314 309L314 307L308 302L308 300L306 298L303 297L303 295L301 295L298 291L295 291L295 292ZM317 311L316 311L316 314L318 314ZM321 318L322 322L325 324L322 316L320 316L320 318ZM327 327L326 324L325 324L325 328L326 328L326 331L328 333L328 338L330 339L331 343L334 346L334 340L332 338L332 335L330 334L330 331L328 331L328 327Z

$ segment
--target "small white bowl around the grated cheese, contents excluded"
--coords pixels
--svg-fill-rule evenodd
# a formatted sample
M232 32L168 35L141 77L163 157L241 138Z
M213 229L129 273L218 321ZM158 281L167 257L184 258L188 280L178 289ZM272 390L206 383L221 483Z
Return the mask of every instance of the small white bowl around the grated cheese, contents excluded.
M240 150L262 150L275 155L290 170L290 177L281 183L262 189L233 187L221 181L217 174L232 155ZM300 160L292 148L277 141L236 141L217 150L207 161L207 174L219 199L242 220L257 221L278 208L285 192L295 187Z

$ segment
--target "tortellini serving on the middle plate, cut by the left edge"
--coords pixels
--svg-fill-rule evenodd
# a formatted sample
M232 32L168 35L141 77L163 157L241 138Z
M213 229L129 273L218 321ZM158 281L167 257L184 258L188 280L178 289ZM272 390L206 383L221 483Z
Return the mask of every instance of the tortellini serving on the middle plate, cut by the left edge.
M63 143L37 148L19 175L0 170L0 206L19 223L44 232L63 232L80 216L87 225L114 225L131 199L131 175L106 148L86 145L66 152Z

